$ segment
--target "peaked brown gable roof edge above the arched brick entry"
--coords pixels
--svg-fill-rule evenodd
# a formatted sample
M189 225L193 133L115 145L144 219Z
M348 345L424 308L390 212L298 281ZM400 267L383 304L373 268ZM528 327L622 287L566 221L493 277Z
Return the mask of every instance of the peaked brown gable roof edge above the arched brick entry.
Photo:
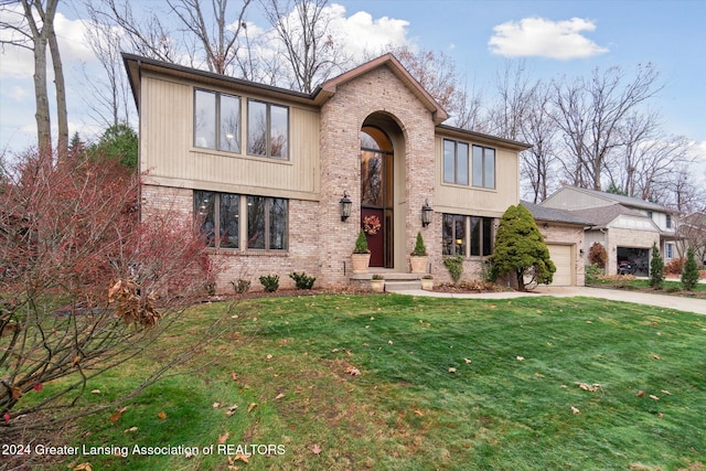
M317 104L325 103L331 96L336 93L336 88L340 85L343 85L350 81L353 81L361 75L367 74L368 72L377 68L386 66L392 71L397 78L402 81L402 83L419 99L419 101L431 113L434 117L434 122L439 125L446 121L449 118L449 115L446 113L443 108L437 103L436 99L417 82L415 77L405 68L404 65L395 57L393 54L387 53L385 55L381 55L377 58L374 58L365 64L359 65L355 68L352 68L338 77L331 78L323 84L321 84L312 95L314 95L314 101Z

